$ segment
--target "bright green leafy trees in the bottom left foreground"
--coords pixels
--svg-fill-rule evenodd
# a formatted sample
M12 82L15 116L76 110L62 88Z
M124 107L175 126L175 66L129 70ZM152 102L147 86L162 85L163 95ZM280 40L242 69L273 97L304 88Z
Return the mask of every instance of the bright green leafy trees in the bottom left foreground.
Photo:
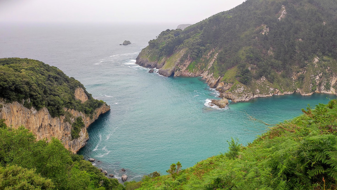
M59 140L36 141L29 130L7 128L3 120L0 126L0 189L124 189Z

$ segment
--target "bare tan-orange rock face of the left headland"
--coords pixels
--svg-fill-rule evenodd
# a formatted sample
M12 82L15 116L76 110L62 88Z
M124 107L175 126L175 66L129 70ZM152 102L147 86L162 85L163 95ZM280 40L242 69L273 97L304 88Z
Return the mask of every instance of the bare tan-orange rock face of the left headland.
M80 99L81 98L83 99L83 97L80 97ZM71 124L65 121L65 116L51 117L45 107L37 111L34 108L27 109L19 102L5 103L3 99L0 99L0 104L2 105L2 108L0 108L0 118L6 119L5 123L7 126L17 129L23 125L36 135L37 140L50 140L52 137L60 139L65 148L73 153L79 151L89 139L87 133L89 125L92 124L100 114L110 110L110 106L104 104L97 108L93 117L90 118L89 115L82 112L64 108L65 111L70 112L75 118L82 116L85 124L85 127L80 132L80 137L71 140ZM74 119L72 118L71 122L73 121Z

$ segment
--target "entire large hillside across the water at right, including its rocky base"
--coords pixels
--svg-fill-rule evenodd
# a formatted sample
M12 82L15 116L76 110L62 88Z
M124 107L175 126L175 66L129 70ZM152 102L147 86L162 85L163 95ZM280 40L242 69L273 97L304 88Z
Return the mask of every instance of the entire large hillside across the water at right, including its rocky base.
M202 76L221 96L336 93L335 0L248 0L166 30L137 57L163 76Z

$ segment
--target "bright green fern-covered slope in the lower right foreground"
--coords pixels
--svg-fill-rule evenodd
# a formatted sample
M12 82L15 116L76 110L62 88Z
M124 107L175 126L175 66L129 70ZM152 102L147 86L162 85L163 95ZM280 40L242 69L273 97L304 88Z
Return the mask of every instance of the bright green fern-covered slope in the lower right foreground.
M270 128L243 147L178 174L144 178L140 189L337 189L337 101Z

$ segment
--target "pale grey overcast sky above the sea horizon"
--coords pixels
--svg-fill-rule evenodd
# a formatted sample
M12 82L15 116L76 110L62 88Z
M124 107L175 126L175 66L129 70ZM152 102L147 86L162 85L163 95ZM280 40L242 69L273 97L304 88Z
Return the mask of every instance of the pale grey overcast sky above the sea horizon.
M194 24L243 0L0 0L0 22Z

